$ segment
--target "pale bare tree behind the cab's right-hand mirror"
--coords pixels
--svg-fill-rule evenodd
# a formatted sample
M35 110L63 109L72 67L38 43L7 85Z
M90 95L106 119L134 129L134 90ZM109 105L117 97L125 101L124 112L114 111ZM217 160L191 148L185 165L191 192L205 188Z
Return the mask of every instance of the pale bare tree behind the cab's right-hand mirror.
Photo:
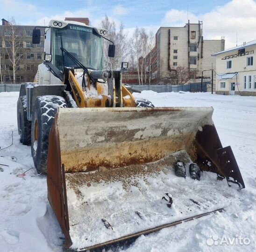
M121 68L121 62L125 60L128 55L127 47L127 33L124 32L123 24L119 29L116 29L114 21L110 21L107 15L101 21L101 27L108 30L107 38L115 44L115 57L108 57L108 45L110 42L104 41L104 64L107 69L119 70Z

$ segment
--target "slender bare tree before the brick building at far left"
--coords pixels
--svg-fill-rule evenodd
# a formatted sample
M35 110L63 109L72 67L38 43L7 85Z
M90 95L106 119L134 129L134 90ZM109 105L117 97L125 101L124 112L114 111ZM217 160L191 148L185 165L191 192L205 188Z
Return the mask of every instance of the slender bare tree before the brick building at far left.
M14 18L11 18L8 25L3 27L3 42L6 48L6 52L9 60L9 69L13 73L13 82L16 82L16 70L19 69L21 60L23 58L22 52L22 41L23 31L16 24Z

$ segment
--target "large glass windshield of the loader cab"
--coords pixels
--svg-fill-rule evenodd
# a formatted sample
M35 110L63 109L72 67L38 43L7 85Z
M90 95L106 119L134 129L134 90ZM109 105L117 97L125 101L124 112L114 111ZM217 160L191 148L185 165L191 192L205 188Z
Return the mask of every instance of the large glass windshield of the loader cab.
M53 62L62 70L77 67L61 48L66 49L85 67L92 70L103 69L102 38L92 28L69 24L65 28L53 28Z

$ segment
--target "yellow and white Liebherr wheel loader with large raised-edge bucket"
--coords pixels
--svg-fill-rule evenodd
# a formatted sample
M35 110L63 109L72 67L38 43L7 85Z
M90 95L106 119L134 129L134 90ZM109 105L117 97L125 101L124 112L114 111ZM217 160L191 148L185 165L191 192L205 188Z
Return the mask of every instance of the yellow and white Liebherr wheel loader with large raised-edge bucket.
M40 42L38 28L33 43ZM212 107L135 100L121 71L104 69L107 30L59 20L44 28L44 61L35 82L21 85L17 122L37 172L47 174L67 247L93 249L223 210L223 183L175 178L177 161L244 188Z

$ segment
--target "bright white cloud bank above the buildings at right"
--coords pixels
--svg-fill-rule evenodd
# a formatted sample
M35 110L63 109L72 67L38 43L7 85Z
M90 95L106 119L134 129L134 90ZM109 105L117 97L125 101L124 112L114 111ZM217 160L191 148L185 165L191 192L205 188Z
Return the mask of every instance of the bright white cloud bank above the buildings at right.
M256 2L254 0L231 0L207 13L188 13L190 22L203 21L204 39L220 39L225 36L225 48L256 39ZM183 26L187 23L187 12L171 9L163 20L164 26Z

